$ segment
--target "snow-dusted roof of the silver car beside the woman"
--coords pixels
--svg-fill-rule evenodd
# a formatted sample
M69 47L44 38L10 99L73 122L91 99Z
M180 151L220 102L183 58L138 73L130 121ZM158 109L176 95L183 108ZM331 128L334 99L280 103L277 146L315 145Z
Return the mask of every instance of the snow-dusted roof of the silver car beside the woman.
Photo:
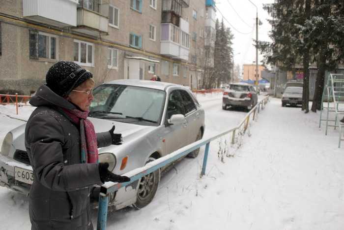
M151 89L157 89L157 90L165 90L165 88L169 86L181 86L181 85L177 85L177 84L173 84L169 82L163 82L163 81L137 80L137 79L114 80L114 81L106 82L104 84L139 86L139 87L145 87L145 88L151 88Z

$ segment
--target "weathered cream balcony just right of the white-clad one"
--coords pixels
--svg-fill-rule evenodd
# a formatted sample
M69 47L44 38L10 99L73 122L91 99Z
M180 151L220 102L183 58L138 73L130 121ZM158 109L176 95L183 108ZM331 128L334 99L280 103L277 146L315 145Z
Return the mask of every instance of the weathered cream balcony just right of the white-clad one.
M102 5L103 8L99 9L109 12L109 5ZM98 36L99 33L108 34L109 18L107 15L102 15L98 12L80 7L77 9L77 26L72 28L73 31L85 33L91 36Z

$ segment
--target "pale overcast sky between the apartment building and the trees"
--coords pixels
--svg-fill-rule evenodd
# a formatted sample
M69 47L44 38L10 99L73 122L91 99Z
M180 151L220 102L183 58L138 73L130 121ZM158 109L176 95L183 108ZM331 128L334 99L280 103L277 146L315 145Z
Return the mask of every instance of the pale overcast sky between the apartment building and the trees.
M258 40L270 41L268 32L271 30L270 24L266 21L269 18L267 12L263 9L263 3L273 3L274 0L251 0L258 7L258 19L263 23L258 28ZM256 49L253 46L256 39L256 7L249 0L216 0L216 16L221 21L223 16L224 23L234 34L234 65L252 64L256 61ZM235 12L234 11L234 9ZM220 11L220 12L219 12ZM234 29L234 28L235 29ZM248 33L248 34L242 34ZM240 53L240 54L237 54ZM258 62L262 57L259 56Z

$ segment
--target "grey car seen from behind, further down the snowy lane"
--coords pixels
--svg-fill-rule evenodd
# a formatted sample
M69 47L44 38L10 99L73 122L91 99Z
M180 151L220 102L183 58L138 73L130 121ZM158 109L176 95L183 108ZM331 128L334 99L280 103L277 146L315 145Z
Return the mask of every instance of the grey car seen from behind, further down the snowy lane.
M232 106L251 110L257 102L257 91L253 86L244 83L229 84L229 89L225 90L222 97L222 109Z

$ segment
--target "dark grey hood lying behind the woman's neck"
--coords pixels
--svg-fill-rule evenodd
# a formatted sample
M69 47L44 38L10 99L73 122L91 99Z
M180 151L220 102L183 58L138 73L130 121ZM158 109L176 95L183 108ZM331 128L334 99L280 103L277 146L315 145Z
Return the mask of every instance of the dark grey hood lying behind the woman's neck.
M58 96L56 93L54 93L47 85L41 85L35 96L33 96L30 100L29 103L32 106L52 106L56 105L61 108L65 108L68 110L76 109L75 105L70 103L68 100Z

